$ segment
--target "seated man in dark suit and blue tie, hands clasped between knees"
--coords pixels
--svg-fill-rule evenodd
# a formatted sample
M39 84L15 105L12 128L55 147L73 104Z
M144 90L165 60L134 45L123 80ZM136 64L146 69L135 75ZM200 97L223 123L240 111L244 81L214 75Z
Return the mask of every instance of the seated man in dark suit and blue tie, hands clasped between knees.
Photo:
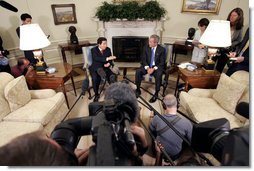
M158 93L160 91L162 73L165 70L166 53L165 49L158 44L159 36L152 35L149 38L149 45L144 48L143 54L141 56L141 67L136 70L135 83L137 86L136 96L141 94L140 84L142 78L146 74L150 74L155 78L155 93L153 97L149 100L153 103L158 98Z

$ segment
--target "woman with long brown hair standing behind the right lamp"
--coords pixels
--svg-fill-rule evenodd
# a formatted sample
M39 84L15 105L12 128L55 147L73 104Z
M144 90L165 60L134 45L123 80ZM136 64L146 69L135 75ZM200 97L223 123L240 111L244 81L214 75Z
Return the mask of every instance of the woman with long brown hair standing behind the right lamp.
M217 56L216 70L222 72L227 61L227 52L234 51L235 46L239 44L242 40L243 32L243 10L241 8L235 8L228 14L228 21L230 21L230 31L231 31L231 42L232 45L229 49L220 49L220 56ZM215 59L216 60L216 59Z

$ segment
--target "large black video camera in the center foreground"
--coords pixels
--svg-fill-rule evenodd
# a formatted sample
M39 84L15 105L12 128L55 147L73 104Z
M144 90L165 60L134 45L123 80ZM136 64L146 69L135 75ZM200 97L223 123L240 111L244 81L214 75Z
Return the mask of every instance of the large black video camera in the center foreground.
M141 165L142 162L135 158L137 156L132 155L136 141L130 123L134 122L134 113L128 103L116 100L93 102L89 104L89 117L60 123L51 138L73 154L81 136L92 134L95 146L89 149L88 166Z

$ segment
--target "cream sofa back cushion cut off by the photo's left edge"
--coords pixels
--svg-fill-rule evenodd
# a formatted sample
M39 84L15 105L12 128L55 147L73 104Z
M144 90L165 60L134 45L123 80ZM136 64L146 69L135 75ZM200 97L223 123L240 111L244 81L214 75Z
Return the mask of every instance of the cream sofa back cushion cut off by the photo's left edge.
M11 74L7 72L0 72L0 120L11 112L9 103L4 96L4 89L6 85L13 79L14 77Z

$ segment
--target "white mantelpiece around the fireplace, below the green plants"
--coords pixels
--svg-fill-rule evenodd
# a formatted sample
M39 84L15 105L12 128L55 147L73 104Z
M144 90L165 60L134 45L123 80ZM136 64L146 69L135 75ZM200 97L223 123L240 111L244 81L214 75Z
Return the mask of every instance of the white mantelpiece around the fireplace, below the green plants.
M108 40L108 47L112 49L113 36L151 36L157 34L162 37L164 31L163 23L165 19L160 21L111 21L97 22L97 31L99 36L106 37Z

